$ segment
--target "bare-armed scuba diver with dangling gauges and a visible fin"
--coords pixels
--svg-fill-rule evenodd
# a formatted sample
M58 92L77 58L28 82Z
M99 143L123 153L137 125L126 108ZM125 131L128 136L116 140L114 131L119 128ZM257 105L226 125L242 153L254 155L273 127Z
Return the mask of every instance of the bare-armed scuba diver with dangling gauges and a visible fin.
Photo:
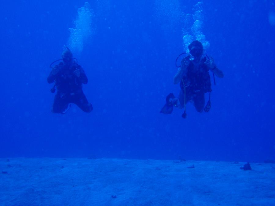
M211 108L210 92L211 80L209 70L212 71L215 84L215 76L223 78L223 72L216 67L211 56L204 54L204 48L201 42L195 40L188 46L190 55L184 57L177 74L174 76L174 84L180 82L180 92L178 98L170 93L166 97L166 104L161 109L163 114L171 114L173 107L184 107L183 118L186 118L186 103L193 102L198 112L208 112ZM182 53L184 54L184 53ZM179 55L180 56L180 55ZM178 56L178 57L179 57ZM178 58L177 58L178 60ZM176 63L177 63L176 60ZM204 94L209 92L209 100L205 105Z

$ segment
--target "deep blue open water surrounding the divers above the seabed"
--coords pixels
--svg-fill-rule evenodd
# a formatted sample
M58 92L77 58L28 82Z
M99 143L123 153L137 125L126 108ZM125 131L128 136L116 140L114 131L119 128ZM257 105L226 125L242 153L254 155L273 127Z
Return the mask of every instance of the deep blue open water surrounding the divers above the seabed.
M163 2L169 2L163 0ZM177 1L172 1L177 2ZM193 14L197 1L182 1ZM225 77L212 108L160 114L183 52L182 19L154 1L93 1L95 33L76 56L94 110L52 114L49 65L84 1L5 1L0 9L0 157L119 157L263 161L275 158L274 1L207 1L202 32ZM167 11L174 13L175 11ZM208 96L206 96L208 98Z

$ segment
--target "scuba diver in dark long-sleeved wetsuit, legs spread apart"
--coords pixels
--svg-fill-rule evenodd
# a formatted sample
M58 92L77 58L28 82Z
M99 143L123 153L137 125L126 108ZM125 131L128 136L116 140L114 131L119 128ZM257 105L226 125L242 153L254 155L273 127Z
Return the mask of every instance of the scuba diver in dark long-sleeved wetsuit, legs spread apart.
M52 67L53 63L60 60L62 62ZM82 84L88 83L84 70L77 64L77 60L73 58L73 54L68 48L62 53L62 59L60 60L51 63L52 70L47 78L49 84L55 82L51 92L54 93L57 89L52 112L65 114L71 107L70 103L76 104L84 112L91 112L93 107L82 91Z

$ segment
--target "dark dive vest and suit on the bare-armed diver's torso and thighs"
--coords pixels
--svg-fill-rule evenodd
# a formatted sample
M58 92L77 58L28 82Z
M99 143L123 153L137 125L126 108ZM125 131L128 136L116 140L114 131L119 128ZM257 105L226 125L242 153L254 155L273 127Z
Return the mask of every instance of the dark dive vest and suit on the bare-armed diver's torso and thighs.
M205 98L204 93L211 92L211 80L209 75L209 69L204 64L206 57L202 58L198 63L197 68L194 69L195 65L190 61L187 67L186 76L183 77L185 84L189 86L185 87L185 103L190 100L194 101L194 106L198 112L202 112L204 109ZM179 100L181 105L184 105L184 87L182 81L180 82L181 91L179 94Z

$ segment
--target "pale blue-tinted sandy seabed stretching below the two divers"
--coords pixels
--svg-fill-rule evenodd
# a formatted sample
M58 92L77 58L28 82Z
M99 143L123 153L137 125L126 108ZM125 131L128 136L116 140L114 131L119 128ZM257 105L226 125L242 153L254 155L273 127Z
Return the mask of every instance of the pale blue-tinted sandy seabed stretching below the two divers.
M0 205L275 205L275 164L243 164L5 158Z

